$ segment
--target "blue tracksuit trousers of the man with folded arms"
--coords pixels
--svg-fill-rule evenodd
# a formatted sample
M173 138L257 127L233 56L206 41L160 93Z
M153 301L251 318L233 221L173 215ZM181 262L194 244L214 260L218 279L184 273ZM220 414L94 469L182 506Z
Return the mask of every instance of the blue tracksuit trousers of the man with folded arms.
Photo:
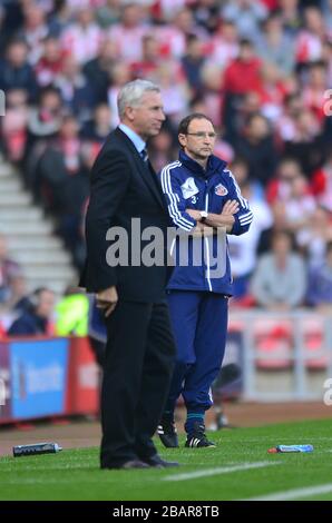
M228 298L169 290L167 300L177 355L165 412L174 412L180 394L187 411L207 411L213 404L211 385L225 353Z

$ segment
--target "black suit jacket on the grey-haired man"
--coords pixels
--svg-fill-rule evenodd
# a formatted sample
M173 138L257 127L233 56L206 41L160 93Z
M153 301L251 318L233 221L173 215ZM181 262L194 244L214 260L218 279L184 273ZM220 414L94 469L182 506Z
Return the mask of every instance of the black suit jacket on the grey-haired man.
M133 218L140 219L141 231L158 227L166 239L170 224L157 176L143 161L131 140L117 128L107 138L91 171L86 217L87 260L79 285L94 293L116 285L121 299L155 302L164 296L169 276L166 243L158 246L158 255L160 249L164 250L162 266L135 265L135 262L133 265L131 241L139 255L149 244L148 240L139 241L139 234L133 229ZM128 266L114 267L106 260L107 249L118 243L118 237L106 239L110 227L121 227L128 235Z

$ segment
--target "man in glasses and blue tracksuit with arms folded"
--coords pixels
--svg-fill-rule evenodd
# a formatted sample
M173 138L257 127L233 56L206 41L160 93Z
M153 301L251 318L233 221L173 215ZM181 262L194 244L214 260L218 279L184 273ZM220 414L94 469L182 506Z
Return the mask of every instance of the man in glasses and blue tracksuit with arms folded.
M253 219L226 162L213 155L215 138L206 116L189 115L178 128L179 159L160 172L169 216L179 233L170 247L175 267L167 286L177 358L158 427L167 447L178 446L174 411L180 394L187 408L186 446L215 446L205 435L204 415L213 404L211 385L226 344L232 295L226 233L242 235Z

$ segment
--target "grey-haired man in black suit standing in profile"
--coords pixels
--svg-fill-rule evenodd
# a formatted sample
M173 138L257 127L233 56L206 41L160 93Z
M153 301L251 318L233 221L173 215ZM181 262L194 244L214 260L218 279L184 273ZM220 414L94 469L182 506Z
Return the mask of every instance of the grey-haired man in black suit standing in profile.
M165 300L168 270L166 259L159 265L139 260L148 243L137 230L138 224L141 231L155 227L166 237L169 225L145 149L165 119L159 88L147 80L127 83L118 96L118 111L120 125L92 167L87 263L80 280L96 293L107 325L100 462L101 468L175 466L162 460L152 440L175 357Z

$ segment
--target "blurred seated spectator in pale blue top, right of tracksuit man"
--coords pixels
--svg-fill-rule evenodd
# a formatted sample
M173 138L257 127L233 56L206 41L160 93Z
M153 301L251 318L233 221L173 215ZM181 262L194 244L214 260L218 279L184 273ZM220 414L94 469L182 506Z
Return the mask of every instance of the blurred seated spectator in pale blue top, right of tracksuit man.
M304 260L285 231L273 235L272 249L263 255L252 279L252 295L260 307L285 312L302 305L306 290Z

